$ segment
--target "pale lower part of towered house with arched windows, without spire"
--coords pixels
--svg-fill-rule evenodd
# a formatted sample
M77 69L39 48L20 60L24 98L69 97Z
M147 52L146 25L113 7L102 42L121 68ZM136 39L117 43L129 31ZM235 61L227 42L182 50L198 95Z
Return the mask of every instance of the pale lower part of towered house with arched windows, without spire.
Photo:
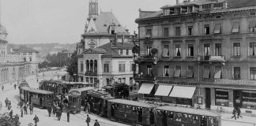
M134 83L134 58L130 42L107 43L85 50L78 59L78 80L86 83L100 83L100 88L113 83ZM81 76L83 75L83 76Z

